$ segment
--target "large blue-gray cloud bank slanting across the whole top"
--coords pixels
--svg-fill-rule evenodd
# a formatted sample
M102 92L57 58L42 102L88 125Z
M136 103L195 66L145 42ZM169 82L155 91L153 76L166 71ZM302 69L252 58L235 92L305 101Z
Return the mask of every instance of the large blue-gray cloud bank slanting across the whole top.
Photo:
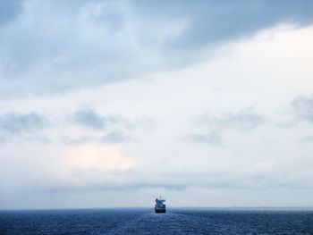
M0 21L6 25L0 29L3 98L143 77L198 62L207 55L204 47L216 48L278 23L300 27L313 19L310 1L1 4Z

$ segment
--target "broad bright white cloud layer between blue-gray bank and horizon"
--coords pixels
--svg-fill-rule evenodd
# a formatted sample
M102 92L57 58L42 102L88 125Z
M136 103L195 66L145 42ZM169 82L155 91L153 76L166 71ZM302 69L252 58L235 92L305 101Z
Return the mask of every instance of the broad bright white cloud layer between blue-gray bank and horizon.
M313 166L311 149L299 144L298 139L309 136L312 127L282 129L272 124L290 115L286 110L295 97L311 94L313 70L309 64L313 54L308 53L312 49L311 39L313 29L309 27L266 29L254 38L224 45L205 62L154 73L145 80L1 102L3 113L16 110L28 113L31 108L52 119L64 120L88 106L101 113L101 118L107 113L119 113L130 120L146 120L145 117L155 120L145 122L139 129L124 128L131 131L133 141L97 143L97 147L90 148L90 158L89 153L83 154L77 162L76 154L71 154L71 161L65 161L64 156L71 151L77 155L85 153L84 141L74 146L57 141L46 146L37 142L2 144L0 172L5 191L2 201L8 207L17 205L8 195L23 192L30 205L36 206L31 197L45 201L55 191L57 199L51 199L49 205L59 206L57 201L66 195L77 199L75 205L88 206L78 196L79 189L90 197L101 196L107 205L99 203L99 199L95 205L104 206L122 206L121 190L127 190L133 198L146 192L147 196L140 196L145 206L149 197L160 191L172 197L173 205L184 202L196 206L194 198L198 198L202 206L311 206L307 195L312 196L313 187L309 180ZM255 109L249 110L247 121L245 112L240 111L250 106ZM215 117L231 113L222 118L223 125L231 121L227 126L233 127L234 123L238 127L238 123L244 122L258 128L224 131L223 147L186 141L190 133L210 133L212 127L196 124L203 113ZM240 121L233 119L238 113ZM251 115L273 122L257 125L258 122L249 121ZM98 132L69 122L45 131L55 139L62 136L80 139ZM99 133L99 137L103 134ZM94 155L94 151L105 156ZM71 167L82 171L77 172L77 178L64 170ZM80 181L83 183L79 184ZM85 187L89 182L89 187ZM282 202L280 193L286 190L297 200L286 197ZM299 191L306 193L298 194ZM245 193L250 196L247 203L242 200Z

